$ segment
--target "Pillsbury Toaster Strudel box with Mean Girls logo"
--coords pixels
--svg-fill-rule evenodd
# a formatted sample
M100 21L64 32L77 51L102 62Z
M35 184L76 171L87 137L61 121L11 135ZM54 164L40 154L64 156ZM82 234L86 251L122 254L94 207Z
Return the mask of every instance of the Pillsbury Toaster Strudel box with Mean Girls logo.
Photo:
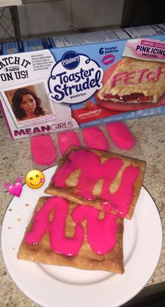
M165 24L1 44L13 138L165 113Z

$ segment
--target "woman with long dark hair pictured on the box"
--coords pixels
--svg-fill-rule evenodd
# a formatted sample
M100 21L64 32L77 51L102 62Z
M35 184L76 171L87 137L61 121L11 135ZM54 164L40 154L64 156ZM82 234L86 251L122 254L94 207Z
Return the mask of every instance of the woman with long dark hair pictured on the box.
M41 98L27 88L17 89L12 98L12 109L18 120L35 119L45 115Z

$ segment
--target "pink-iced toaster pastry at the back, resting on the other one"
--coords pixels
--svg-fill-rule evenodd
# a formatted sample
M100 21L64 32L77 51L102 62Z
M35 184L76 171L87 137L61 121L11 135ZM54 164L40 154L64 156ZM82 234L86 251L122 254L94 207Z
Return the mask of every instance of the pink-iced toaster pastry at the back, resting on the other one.
M45 193L131 219L144 173L143 160L71 148L59 160Z

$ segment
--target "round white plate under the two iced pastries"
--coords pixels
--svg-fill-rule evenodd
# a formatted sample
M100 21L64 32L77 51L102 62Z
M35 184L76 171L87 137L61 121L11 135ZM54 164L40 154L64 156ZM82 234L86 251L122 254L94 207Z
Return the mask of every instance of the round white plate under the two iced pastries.
M54 172L55 167L45 170L42 188L33 190L25 184L20 198L13 197L6 210L1 230L6 268L17 287L44 307L121 306L141 291L159 261L162 223L155 202L141 188L132 220L124 220L123 275L17 260L24 230Z

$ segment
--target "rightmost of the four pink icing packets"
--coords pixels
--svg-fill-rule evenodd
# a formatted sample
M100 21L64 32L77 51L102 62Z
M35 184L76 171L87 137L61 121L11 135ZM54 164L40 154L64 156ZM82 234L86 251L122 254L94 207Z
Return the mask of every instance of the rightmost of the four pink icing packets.
M107 123L106 128L114 144L124 150L131 149L135 145L134 136L122 121Z

